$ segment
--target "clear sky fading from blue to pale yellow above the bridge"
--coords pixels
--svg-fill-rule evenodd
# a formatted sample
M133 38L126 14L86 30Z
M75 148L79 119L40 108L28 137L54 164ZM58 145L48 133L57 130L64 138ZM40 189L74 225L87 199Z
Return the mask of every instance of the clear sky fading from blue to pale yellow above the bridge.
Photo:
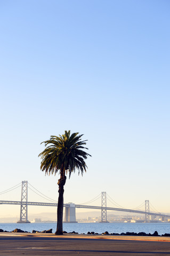
M149 199L170 212L169 7L0 1L1 191L28 180L57 198L58 175L39 168L40 143L71 130L92 158L83 177L67 180L65 203L107 191L124 207Z

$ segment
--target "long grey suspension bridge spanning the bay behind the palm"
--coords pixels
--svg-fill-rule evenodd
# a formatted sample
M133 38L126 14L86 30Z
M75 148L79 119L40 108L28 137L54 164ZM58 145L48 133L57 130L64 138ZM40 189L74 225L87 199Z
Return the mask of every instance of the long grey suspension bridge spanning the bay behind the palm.
M28 223L29 222L29 220L28 220L28 206L29 205L54 206L54 207L58 206L56 201L54 201L53 199L42 194L40 191L38 191L36 188L34 188L32 185L30 185L30 183L28 181L22 181L19 185L16 185L10 189L2 191L0 193L0 195L8 193L9 191L13 191L14 189L18 188L19 186L21 187L21 201L0 200L0 204L20 205L20 220L18 221L19 223ZM50 203L50 202L47 202L47 203L29 202L28 201L28 188L31 189L32 191L34 191L38 195L41 194L41 196L43 198L46 198L48 201L50 201L52 203ZM96 198L99 199L99 196L97 196ZM94 198L91 201L88 201L86 203L94 202L96 198ZM131 212L131 213L137 213L137 214L144 214L145 222L149 222L150 215L158 216L163 219L170 218L170 215L167 215L167 214L163 214L160 212L151 212L150 208L149 208L149 200L145 200L145 202L140 205L140 206L144 205L144 207L145 207L144 210L139 210L139 207L138 207L138 210L137 209L132 210L132 209L123 208L121 206L120 207L107 207L107 198L109 201L111 200L110 201L111 203L114 204L115 201L106 192L101 193L101 206L86 205L86 203L84 203L84 204L74 204L74 203L64 204L64 208L65 208L64 221L65 222L76 222L76 208L101 210L101 222L108 222L107 211L120 211L120 212Z

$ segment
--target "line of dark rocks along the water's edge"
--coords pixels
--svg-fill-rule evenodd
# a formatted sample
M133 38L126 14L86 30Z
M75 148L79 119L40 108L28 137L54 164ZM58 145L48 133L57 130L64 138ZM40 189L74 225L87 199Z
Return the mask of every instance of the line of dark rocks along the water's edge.
M12 231L6 231L6 230L3 230L3 229L0 229L0 232L1 233L30 233L28 231L23 231L19 228L15 228L14 230ZM52 229L48 229L48 230L43 230L43 231L38 231L38 230L33 230L31 233L48 233L48 234L52 234ZM75 231L72 231L72 232L69 232L67 233L67 231L63 231L63 234L78 234L77 232ZM85 233L81 233L80 235L85 235ZM169 233L165 233L163 235L159 235L157 231L155 231L153 234L147 234L145 232L139 232L139 233L134 233L134 232L126 232L126 233L108 233L108 231L105 231L104 233L102 234L99 234L99 233L95 233L95 232L90 232L88 231L87 232L87 235L112 235L112 236L165 236L165 237L170 237L170 234Z

